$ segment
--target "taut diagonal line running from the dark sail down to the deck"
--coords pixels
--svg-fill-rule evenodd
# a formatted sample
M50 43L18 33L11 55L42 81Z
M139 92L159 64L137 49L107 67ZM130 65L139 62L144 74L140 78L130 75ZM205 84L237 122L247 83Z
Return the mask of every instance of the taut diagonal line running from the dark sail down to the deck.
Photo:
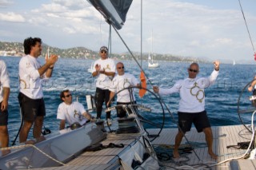
M113 26L113 28L114 28L115 32L118 34L118 36L119 36L119 38L121 39L122 43L123 43L124 45L126 45L126 42L124 42L124 40L122 39L121 35L118 33L118 30L117 30L114 26ZM127 48L128 51L130 52L131 56L134 58L134 61L138 64L138 67L139 67L139 68L141 69L141 71L144 73L146 79L150 82L150 85L153 86L153 84L152 84L152 82L150 81L149 77L147 77L145 71L142 69L142 65L139 65L139 63L138 63L136 57L134 57L134 54L130 51L128 45L126 45L126 48ZM159 101L161 101L162 104L166 107L168 113L170 114L170 117L172 117L172 119L174 120L175 124L178 126L178 129L182 132L182 129L179 127L178 122L175 120L173 113L170 112L170 109L167 107L166 103L162 100L162 97L161 97L159 94L158 94L158 97L159 97ZM188 142L188 144L190 144L190 141L187 139L187 137L185 136L185 134L184 134L183 132L182 132L182 134L183 134L183 137L184 137L184 138L186 139L186 141ZM190 146L191 146L191 144L190 144ZM194 151L194 149L193 149L193 152L194 152L194 155L197 156L198 160L200 160L198 154ZM201 160L201 161L202 161L202 160Z

